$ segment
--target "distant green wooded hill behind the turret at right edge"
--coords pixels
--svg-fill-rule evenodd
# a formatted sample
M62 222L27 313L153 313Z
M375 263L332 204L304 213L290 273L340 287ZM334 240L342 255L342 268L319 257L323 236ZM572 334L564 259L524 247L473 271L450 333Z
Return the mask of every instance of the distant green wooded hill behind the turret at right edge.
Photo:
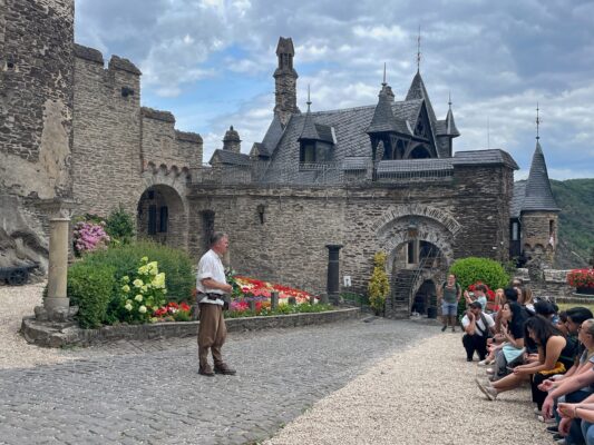
M585 267L594 249L594 179L552 180L561 207L556 267Z

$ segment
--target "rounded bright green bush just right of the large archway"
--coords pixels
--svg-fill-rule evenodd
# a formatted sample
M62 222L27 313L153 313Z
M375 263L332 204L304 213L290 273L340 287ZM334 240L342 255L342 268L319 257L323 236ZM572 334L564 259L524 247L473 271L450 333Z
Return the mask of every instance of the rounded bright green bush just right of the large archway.
M503 266L489 258L468 257L458 259L454 261L449 273L456 275L456 280L462 289L481 281L495 290L499 287L507 287L510 279Z

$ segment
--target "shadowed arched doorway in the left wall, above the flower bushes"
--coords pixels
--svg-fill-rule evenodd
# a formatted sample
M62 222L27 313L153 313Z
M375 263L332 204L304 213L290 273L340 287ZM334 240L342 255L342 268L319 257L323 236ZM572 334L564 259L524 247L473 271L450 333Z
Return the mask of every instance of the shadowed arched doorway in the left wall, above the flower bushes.
M187 248L187 215L179 194L172 187L148 187L137 206L138 237L176 247Z

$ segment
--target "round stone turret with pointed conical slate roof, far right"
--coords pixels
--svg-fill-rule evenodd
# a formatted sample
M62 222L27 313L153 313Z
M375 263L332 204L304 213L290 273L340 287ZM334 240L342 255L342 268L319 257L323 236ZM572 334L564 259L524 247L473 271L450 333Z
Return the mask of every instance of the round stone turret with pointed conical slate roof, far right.
M522 243L528 268L552 267L557 248L559 211L551 190L543 149L536 141L520 214Z

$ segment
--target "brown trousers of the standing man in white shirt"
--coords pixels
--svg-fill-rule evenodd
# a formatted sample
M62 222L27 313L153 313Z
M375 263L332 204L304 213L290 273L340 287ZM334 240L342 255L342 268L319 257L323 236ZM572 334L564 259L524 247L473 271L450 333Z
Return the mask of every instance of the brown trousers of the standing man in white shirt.
M214 365L223 364L221 348L227 336L225 319L223 318L223 306L201 303L198 326L198 357L199 366L204 368L208 365L208 349L213 353Z

